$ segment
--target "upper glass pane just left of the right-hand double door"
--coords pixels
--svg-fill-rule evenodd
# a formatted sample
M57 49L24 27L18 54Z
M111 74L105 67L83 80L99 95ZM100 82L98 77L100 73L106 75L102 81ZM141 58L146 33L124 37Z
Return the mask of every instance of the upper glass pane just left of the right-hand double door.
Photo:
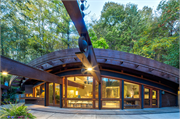
M124 82L124 98L139 98L139 85Z

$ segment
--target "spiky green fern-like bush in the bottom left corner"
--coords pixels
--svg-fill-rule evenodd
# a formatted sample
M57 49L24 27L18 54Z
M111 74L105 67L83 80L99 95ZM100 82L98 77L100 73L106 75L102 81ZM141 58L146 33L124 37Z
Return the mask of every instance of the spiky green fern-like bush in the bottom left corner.
M36 117L29 113L30 110L27 109L27 106L24 104L17 105L10 103L10 107L4 108L0 110L0 118L1 119L35 119Z

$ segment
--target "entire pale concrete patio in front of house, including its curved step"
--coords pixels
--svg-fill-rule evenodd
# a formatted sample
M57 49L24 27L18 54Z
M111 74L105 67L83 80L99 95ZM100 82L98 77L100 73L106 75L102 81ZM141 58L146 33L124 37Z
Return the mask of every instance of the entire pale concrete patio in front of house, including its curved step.
M20 104L19 104L20 105ZM37 119L179 119L178 107L125 109L125 110L94 110L68 109L51 106L26 104L30 113ZM9 107L3 105L1 107Z

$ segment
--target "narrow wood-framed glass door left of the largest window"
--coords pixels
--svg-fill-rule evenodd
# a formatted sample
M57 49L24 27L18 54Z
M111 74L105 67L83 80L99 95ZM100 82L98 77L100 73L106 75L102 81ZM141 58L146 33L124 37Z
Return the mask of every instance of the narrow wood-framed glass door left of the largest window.
M60 85L56 83L49 83L49 105L60 105Z

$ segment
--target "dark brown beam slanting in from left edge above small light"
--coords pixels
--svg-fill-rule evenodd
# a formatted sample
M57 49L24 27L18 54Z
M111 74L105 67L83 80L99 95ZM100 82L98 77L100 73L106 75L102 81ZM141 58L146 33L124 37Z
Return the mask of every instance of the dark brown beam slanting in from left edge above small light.
M26 64L17 62L15 60L1 56L1 68L0 71L8 72L12 75L23 76L30 79L36 79L45 82L54 82L62 84L61 77L42 71Z

